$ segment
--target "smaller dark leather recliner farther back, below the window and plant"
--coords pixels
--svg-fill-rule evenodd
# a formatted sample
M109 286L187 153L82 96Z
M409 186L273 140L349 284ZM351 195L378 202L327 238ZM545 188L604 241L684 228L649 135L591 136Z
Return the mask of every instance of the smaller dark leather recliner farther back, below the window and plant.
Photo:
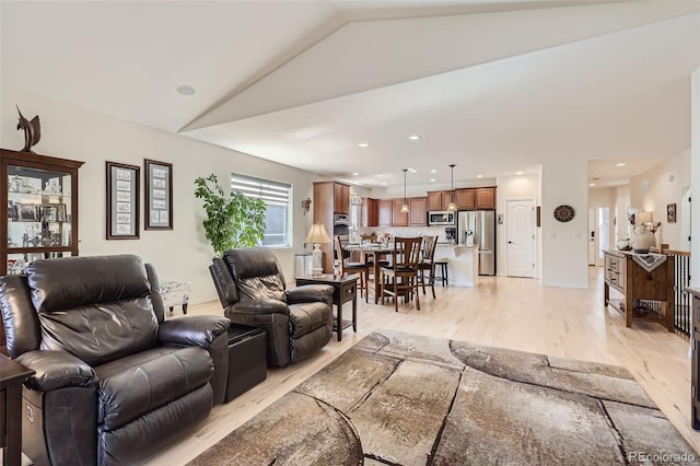
M275 254L262 247L226 251L209 271L224 315L262 328L268 364L284 368L323 348L332 334L332 287L285 288Z

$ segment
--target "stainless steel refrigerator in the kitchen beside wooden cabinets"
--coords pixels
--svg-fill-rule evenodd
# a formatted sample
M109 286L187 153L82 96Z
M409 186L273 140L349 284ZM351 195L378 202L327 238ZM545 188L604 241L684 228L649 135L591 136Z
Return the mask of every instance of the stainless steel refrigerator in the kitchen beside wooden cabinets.
M459 211L458 242L478 248L479 275L495 275L495 211Z

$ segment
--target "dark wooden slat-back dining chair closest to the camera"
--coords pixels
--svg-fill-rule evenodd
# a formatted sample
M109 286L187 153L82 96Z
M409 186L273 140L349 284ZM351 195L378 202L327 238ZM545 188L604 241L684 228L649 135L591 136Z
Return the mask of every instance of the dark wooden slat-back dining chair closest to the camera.
M416 308L420 310L418 264L422 241L423 238L420 236L394 238L393 264L382 267L382 304L384 304L385 295L394 296L396 312L398 312L399 295L404 295L405 303L416 296Z

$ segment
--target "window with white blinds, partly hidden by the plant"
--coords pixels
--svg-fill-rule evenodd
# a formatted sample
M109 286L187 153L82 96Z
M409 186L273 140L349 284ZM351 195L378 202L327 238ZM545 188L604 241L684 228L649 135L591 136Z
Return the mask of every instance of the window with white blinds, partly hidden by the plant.
M232 173L231 190L262 199L267 206L262 246L291 246L292 185Z

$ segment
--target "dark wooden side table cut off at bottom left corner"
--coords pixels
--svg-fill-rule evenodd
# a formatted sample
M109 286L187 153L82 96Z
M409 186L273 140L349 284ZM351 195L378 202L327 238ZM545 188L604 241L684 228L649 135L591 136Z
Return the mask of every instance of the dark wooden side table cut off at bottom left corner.
M4 466L22 462L22 382L32 374L34 371L0 354L0 446Z

